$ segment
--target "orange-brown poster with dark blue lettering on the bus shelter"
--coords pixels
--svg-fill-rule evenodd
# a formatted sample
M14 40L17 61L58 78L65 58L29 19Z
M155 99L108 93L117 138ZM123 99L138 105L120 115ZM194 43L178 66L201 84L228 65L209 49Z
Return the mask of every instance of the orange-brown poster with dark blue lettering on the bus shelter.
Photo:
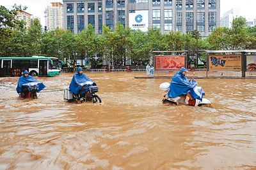
M241 71L241 55L209 55L209 71Z

